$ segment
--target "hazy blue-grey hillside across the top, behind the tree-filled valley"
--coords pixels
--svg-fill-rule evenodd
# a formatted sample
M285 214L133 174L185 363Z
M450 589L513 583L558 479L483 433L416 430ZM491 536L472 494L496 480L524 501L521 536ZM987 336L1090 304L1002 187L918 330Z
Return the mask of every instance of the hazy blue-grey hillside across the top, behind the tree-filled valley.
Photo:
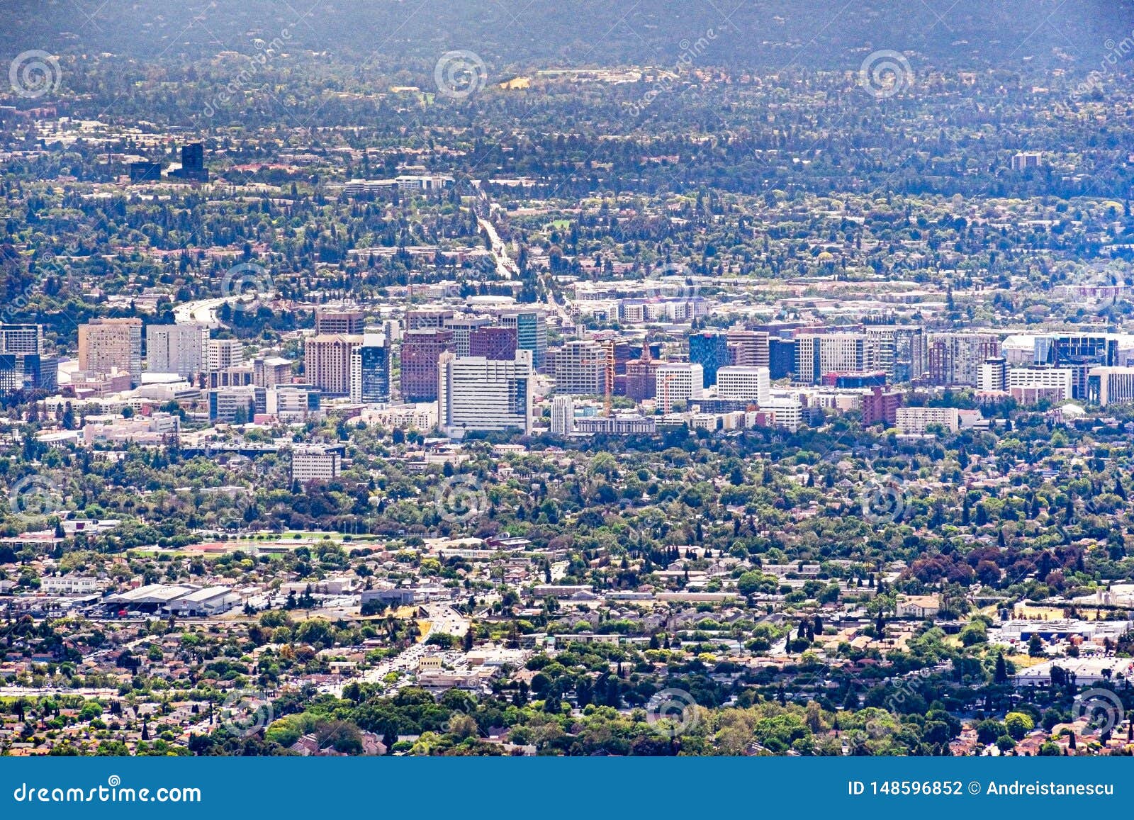
M276 0L77 5L96 25L81 25L70 2L9 0L0 27L3 53L112 52L176 64L220 51L254 53L259 37L382 70L390 61L435 60L449 49L474 51L496 69L672 66L711 32L692 64L857 70L870 52L892 49L939 68L1031 64L1086 73L1134 28L1129 0L534 0L526 7L324 0L302 20L303 7L293 12Z

